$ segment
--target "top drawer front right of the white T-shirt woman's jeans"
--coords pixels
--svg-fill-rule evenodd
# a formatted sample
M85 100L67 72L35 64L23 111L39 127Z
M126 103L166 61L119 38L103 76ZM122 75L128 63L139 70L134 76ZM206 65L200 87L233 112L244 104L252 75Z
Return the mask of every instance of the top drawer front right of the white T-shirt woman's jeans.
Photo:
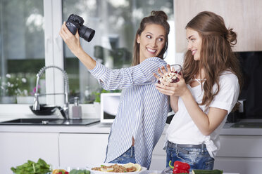
M216 156L262 157L262 136L220 135L220 145Z

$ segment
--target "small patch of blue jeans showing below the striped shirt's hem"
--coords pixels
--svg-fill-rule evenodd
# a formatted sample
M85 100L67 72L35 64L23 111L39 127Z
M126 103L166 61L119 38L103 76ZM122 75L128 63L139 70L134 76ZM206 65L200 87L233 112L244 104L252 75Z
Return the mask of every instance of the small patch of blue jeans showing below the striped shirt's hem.
M136 163L135 161L135 147L130 147L125 153L109 163Z

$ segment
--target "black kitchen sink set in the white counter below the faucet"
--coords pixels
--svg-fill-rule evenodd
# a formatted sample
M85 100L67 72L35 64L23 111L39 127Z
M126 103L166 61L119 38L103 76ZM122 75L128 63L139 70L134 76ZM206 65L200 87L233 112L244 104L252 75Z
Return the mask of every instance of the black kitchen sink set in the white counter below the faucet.
M99 119L13 119L2 121L0 125L43 125L43 126L86 126Z

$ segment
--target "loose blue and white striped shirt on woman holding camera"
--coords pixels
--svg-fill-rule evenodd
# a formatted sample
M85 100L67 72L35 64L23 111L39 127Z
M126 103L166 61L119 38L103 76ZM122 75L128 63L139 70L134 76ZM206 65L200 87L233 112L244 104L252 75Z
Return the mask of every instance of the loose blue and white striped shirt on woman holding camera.
M122 69L108 69L96 62L96 67L90 70L102 88L122 89L118 114L108 139L106 163L126 152L134 137L135 160L149 168L168 114L168 97L151 82L153 72L162 65L166 66L166 62L160 58L147 58L139 65Z

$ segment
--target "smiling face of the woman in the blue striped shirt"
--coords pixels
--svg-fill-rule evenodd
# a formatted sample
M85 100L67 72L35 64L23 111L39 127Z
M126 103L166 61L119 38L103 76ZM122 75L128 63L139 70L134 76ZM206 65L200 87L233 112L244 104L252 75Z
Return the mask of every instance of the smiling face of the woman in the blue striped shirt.
M146 58L157 57L164 48L165 42L166 32L164 27L156 24L146 25L141 35L137 36L140 63Z

